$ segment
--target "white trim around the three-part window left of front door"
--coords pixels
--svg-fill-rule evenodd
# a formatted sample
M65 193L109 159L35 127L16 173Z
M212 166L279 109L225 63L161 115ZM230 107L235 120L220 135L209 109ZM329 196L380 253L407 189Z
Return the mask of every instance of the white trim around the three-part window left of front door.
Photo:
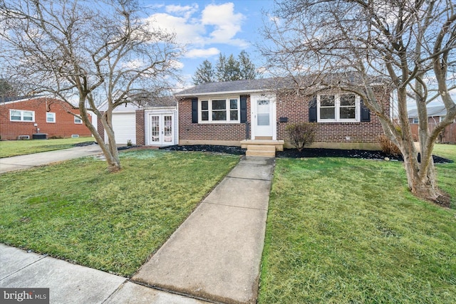
M212 101L213 100L225 100L225 109L223 110L226 113L227 120L212 120ZM237 109L231 108L231 100L236 100ZM202 103L207 101L207 110L202 109ZM237 120L231 120L231 112L237 111ZM207 120L202 120L202 112L207 111ZM221 110L215 110L221 112ZM235 124L241 122L241 98L239 96L207 96L204 98L198 98L198 123L202 124L217 124L217 123L229 123Z

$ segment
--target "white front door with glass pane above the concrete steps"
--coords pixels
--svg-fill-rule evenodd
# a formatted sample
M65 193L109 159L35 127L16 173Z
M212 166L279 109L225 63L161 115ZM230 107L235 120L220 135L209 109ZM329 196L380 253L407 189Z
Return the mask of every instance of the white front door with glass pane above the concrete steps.
M271 137L274 140L274 99L257 96L252 98L252 103L252 139Z

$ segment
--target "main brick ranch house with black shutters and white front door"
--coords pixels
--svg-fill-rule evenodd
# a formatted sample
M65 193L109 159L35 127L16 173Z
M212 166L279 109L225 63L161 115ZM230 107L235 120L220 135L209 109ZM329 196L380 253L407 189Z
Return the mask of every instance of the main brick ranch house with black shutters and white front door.
M247 147L247 155L262 150L256 145L269 146L269 150L275 146L270 152L274 155L284 146L292 147L286 125L317 122L316 142L311 147L378 150L377 137L383 134L380 121L358 95L284 93L270 89L274 82L267 78L203 83L177 93L179 145L242 146ZM390 90L380 85L374 88L389 115Z

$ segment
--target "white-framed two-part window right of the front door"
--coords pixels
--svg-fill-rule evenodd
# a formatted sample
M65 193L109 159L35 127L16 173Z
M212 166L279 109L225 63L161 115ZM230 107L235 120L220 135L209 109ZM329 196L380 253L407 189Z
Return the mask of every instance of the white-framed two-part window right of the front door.
M360 97L355 94L317 96L318 122L359 122Z

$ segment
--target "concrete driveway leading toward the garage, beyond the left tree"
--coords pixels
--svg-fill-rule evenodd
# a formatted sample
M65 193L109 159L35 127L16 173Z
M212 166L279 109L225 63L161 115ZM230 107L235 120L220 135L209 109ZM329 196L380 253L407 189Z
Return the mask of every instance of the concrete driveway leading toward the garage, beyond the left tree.
M4 172L28 169L32 167L61 162L67 159L100 154L101 149L98 145L88 145L84 147L73 147L70 149L47 151L33 154L26 154L14 157L0 158L0 174Z

